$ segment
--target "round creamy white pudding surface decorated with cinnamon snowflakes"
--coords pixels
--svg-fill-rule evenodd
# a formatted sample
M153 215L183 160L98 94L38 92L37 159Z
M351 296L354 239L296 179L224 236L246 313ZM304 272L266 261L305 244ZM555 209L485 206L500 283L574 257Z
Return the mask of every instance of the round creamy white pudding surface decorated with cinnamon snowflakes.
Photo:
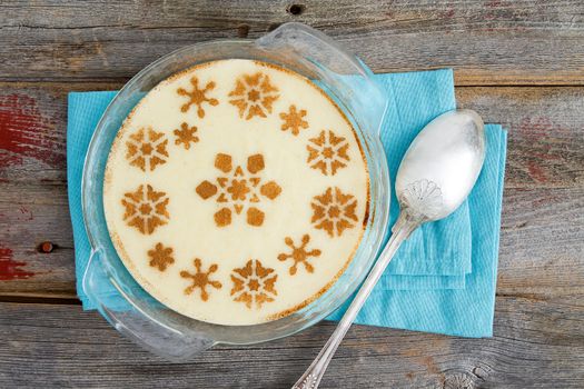
M137 282L219 325L275 320L330 288L362 240L368 196L360 143L327 94L239 59L146 94L103 184L110 237Z

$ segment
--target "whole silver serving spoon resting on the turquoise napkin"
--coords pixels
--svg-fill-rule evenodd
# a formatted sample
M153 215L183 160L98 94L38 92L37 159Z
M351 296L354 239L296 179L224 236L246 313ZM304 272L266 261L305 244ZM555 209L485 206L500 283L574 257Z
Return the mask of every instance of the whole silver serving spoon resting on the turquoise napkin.
M414 139L395 180L400 211L392 238L335 332L293 389L318 387L338 345L402 242L422 223L443 219L463 203L475 186L484 159L484 124L475 111L443 113Z

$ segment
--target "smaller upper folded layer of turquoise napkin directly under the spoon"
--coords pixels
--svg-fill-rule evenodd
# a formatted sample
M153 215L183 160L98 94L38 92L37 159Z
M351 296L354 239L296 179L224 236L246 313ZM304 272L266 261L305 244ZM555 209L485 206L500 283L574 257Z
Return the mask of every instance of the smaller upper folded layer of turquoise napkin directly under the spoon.
M415 73L377 74L389 104L382 128L390 177L407 148L432 119L455 109L449 69ZM390 225L399 207L392 190ZM471 220L465 202L447 219L424 225L404 242L382 278L385 290L462 289L471 272Z

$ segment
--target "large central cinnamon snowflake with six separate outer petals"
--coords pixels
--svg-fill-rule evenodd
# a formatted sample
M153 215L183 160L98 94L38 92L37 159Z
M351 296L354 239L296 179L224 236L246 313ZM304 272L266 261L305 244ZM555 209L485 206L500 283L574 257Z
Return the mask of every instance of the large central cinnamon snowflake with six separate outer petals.
M216 178L217 184L205 180L196 188L197 193L204 199L216 199L221 207L214 216L217 227L231 223L232 211L240 215L246 210L246 220L249 226L259 227L264 223L265 213L258 207L263 199L276 199L281 188L276 181L261 183L258 176L265 169L264 156L248 157L246 170L241 166L234 167L229 154L218 153L215 167L222 173Z

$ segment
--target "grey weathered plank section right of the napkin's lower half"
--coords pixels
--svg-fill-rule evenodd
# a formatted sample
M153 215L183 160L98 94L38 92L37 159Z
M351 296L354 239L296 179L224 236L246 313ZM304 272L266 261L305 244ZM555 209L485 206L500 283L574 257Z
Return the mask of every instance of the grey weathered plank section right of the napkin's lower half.
M506 189L497 293L583 293L583 241L584 188Z

